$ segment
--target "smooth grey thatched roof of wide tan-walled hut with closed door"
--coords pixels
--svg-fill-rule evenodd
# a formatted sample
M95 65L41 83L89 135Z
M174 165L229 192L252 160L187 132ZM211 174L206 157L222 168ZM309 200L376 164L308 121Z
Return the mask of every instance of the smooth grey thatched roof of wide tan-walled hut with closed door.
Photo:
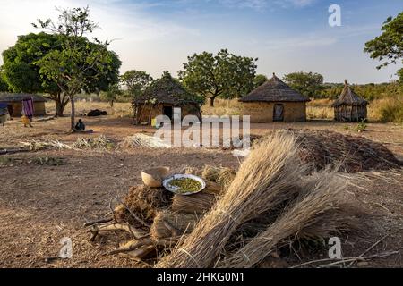
M254 89L250 94L240 99L242 102L306 102L310 101L308 97L300 94L298 91L290 88L280 80L276 74Z

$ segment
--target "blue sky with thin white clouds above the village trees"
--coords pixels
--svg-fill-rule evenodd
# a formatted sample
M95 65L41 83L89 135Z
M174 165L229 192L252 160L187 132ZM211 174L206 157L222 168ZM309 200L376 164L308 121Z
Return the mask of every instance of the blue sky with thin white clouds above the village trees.
M102 28L96 36L114 39L122 72L176 75L188 55L223 47L258 57L266 75L315 71L330 82L384 82L401 67L378 71L363 52L382 22L403 11L401 0L0 0L0 50L35 31L37 18L55 19L55 7L87 4ZM341 27L328 24L330 4L341 7Z

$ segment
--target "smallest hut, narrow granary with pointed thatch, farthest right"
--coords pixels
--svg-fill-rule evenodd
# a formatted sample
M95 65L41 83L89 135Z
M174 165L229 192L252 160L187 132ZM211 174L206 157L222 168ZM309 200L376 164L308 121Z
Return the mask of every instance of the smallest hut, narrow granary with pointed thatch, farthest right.
M338 122L361 122L366 119L368 102L356 95L345 80L340 97L333 103L334 119Z

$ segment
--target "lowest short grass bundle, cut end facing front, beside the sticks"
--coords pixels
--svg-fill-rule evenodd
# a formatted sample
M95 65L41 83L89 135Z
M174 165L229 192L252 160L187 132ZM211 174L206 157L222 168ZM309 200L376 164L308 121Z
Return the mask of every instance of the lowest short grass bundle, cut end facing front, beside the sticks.
M194 225L199 221L196 214L183 214L164 210L159 212L150 228L153 240L168 239L181 236L193 231Z

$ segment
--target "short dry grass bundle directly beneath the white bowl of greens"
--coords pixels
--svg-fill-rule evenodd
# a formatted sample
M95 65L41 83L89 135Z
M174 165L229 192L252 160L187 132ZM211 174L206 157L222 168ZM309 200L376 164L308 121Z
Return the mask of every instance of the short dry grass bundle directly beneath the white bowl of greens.
M209 192L200 192L192 196L175 195L172 210L188 214L204 214L214 205L216 196Z

